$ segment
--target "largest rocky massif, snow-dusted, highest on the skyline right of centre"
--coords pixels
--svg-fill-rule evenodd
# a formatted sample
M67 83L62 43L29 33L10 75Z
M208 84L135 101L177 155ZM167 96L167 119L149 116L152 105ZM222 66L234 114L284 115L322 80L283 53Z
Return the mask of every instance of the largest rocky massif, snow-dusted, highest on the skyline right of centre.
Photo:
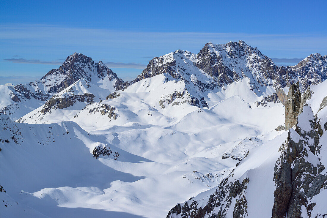
M210 86L213 87L225 87L239 79L249 78L250 89L258 96L261 95L260 92L265 92L267 86L278 90L297 81L297 76L291 69L276 66L257 48L239 41L226 44L209 42L197 55L177 50L154 58L131 83L163 73L184 80L192 74L196 75L195 71L209 76Z

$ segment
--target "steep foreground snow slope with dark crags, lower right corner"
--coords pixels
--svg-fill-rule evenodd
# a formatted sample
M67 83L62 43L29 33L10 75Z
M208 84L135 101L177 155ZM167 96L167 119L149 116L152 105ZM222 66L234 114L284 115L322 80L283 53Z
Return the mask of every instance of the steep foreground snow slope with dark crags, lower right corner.
M325 217L326 84L301 96L293 128L252 148L217 187L167 217Z

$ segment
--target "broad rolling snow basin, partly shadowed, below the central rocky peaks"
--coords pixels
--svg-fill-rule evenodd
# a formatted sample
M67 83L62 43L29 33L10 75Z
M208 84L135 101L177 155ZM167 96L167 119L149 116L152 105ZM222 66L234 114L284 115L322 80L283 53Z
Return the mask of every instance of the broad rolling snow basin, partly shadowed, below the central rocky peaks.
M12 172L20 172L18 169L21 162L17 160L19 157L24 157L31 163L37 160L37 163L26 166L35 168L36 173L56 169L51 178L43 179L48 182L43 182L42 186L39 185L42 181L35 183L34 179L27 179L26 182L25 179L26 184L35 183L34 188L15 184L14 187L19 190L14 189L8 184L12 178L17 177L9 176L3 185L9 187L7 190L13 199L50 217L60 217L60 214L65 214L60 211L72 207L81 208L76 211L76 216L80 217L86 216L81 212L84 211L83 208L92 209L94 214L100 212L98 210L106 210L108 216L113 214L110 211L124 211L146 217L163 217L173 207L174 202L185 201L199 192L217 186L232 171L238 160L222 159L222 156L230 148L236 147L240 139L255 135L259 140L266 141L277 133L273 131L266 134L266 131L269 132L284 122L284 109L281 104L267 108L251 107L239 96L226 99L209 109L199 109L188 103L179 105L170 103L163 109L160 107L160 98L156 96L158 94L164 96L167 93L164 90L184 88L183 82L166 81L165 78L165 75L158 75L144 79L140 84L134 83L123 92L117 91L119 95L114 94L117 97L87 105L71 120L87 129L90 136L86 132L77 134L74 129L78 130L79 127L72 123L75 125L73 128L58 130L59 136L56 136L56 133L50 134L49 139L43 140L44 142L38 146L30 147L29 143L25 143L25 146L28 146L28 154L33 154L31 156L26 156L24 154L26 149L22 148L15 148L15 152L9 152L11 156L6 154L11 160L8 164L15 166L13 169L8 165L7 168ZM113 119L114 116L108 117L110 109L107 113L101 112L103 105L107 105L108 109L114 108L112 112L117 114L116 119ZM71 107L74 106L67 109ZM242 113L250 114L251 118L243 116ZM52 111L51 114L55 112ZM270 116L277 119L271 122ZM43 121L45 119L47 118ZM66 123L60 125L67 125ZM29 127L33 129L38 126L50 130L50 127L58 126L25 123L16 125L18 127L25 125L27 130ZM43 139L45 136L42 135L49 131L35 132L39 136L35 138L26 136L27 133L33 135L33 131L27 130L25 133L20 131L31 144ZM78 131L83 132L82 129ZM265 135L261 136L263 134ZM103 156L101 148L94 150L97 142L103 145L102 148L108 145L110 152L104 152ZM8 151L7 146L12 144L15 144L14 141L10 144L4 143L6 147L2 146L3 150L0 152L2 157L5 155L3 152ZM237 154L243 155L249 149L252 147L241 146L237 148ZM22 153L17 158L12 158L17 152ZM117 160L114 157L115 152L119 154ZM51 157L46 157L45 154L51 154ZM95 157L99 154L97 159L94 154ZM41 167L43 161L50 161L51 164ZM62 169L64 166L69 166L71 170L83 168L83 173L77 171L71 175L70 171ZM23 167L22 171L25 170ZM92 178L88 175L92 175ZM115 176L112 177L113 175ZM58 178L55 178L56 176ZM26 177L29 178L27 175ZM101 181L106 182L101 185ZM24 194L19 195L21 190Z

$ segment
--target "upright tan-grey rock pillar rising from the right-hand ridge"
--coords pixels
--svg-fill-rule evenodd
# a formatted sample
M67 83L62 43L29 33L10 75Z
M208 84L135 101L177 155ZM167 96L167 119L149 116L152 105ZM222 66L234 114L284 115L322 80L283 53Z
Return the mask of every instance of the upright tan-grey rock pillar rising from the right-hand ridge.
M299 82L291 85L287 94L285 105L285 129L288 130L296 124L301 107L301 92Z

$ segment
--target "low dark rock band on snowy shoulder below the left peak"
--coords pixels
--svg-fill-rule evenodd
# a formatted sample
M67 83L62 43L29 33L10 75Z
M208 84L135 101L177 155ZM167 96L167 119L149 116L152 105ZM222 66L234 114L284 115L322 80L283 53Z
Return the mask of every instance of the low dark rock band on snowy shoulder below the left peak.
M51 109L63 109L68 108L69 106L73 106L76 104L77 101L79 102L87 102L87 103L93 103L94 102L94 94L90 93L84 93L82 95L71 95L69 97L62 97L58 98L56 95L52 97L50 100L46 101L41 113L45 114L47 112L51 112Z

